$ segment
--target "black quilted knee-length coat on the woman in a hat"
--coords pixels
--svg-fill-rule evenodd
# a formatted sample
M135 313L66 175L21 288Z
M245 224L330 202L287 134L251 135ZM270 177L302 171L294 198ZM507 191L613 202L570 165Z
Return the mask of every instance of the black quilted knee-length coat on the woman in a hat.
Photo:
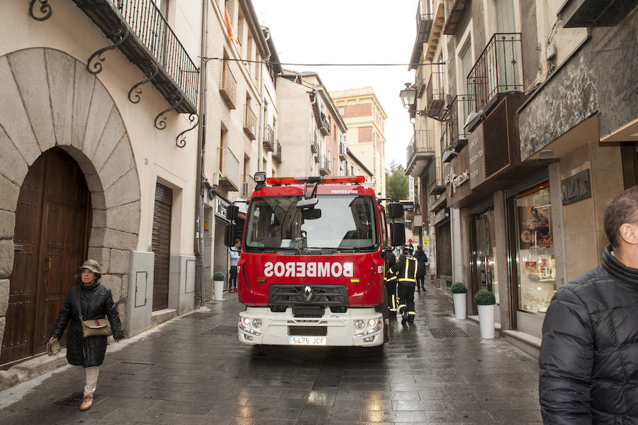
M102 319L108 317L113 331L113 338L124 338L122 323L118 309L113 303L111 289L100 285L96 280L90 286L84 285L72 287L69 295L62 306L60 314L57 316L55 328L51 332L53 338L60 339L65 331L67 324L69 331L67 332L67 360L72 365L99 366L104 361L106 353L106 336L82 336L82 324L78 314L78 301L82 305L82 317L84 320Z

